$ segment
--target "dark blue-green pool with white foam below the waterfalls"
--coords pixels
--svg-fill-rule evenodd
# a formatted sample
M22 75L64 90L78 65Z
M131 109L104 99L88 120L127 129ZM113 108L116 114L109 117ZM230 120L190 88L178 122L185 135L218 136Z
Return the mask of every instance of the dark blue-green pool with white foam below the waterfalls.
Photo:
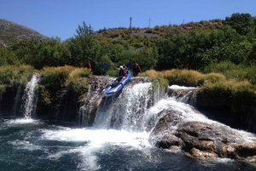
M230 159L196 160L148 142L148 133L0 120L0 170L255 170Z

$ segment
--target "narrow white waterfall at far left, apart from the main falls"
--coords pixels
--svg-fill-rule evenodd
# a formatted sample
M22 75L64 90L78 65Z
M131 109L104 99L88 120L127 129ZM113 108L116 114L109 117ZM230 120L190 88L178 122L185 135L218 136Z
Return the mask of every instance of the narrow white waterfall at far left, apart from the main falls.
M26 119L31 118L33 112L37 108L37 97L35 97L35 88L38 86L39 75L33 74L31 80L26 84L24 94L22 96L22 104L20 113Z

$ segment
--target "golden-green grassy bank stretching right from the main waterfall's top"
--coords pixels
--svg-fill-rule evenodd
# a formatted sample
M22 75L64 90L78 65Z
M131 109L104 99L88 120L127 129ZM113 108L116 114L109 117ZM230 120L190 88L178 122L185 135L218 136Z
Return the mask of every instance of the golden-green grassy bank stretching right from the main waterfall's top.
M165 78L169 85L201 87L196 94L196 100L201 106L227 106L234 116L246 122L247 117L252 113L253 106L256 105L256 68L234 66L230 63L211 67L215 69L209 69L209 67L206 73L175 69L149 70L141 73L140 76Z

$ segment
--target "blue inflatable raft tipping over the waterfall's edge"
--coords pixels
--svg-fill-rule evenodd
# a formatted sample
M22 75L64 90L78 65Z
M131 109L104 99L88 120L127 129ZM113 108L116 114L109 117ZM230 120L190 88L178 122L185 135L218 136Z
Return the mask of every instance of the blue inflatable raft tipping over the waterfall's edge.
M130 81L130 79L131 79L131 71L127 71L127 72L128 72L128 74L127 74L127 76L125 77L124 80L122 80L121 82L109 84L107 86L107 88L105 88L103 90L102 97L106 97L106 96L110 96L110 95L116 94L122 88L124 88L125 84L128 83Z

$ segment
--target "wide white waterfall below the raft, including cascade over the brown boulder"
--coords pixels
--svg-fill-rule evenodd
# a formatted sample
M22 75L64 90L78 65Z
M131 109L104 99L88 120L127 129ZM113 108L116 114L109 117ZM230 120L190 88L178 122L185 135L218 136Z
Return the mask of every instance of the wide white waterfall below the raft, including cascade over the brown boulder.
M163 94L150 94L151 86L151 83L128 84L119 94L104 97L97 108L93 127L151 133L161 118L171 114L173 121L161 135L174 134L180 123L202 122L214 127L228 128L230 133L236 134L236 137L240 137L241 140L248 140L247 137L251 137L251 135L245 135L244 132L232 129L223 123L208 119L193 106L186 104L191 96L191 91L187 91L183 98L167 97ZM160 92L160 90L155 92ZM160 100L155 100L153 104L150 100L152 97L162 98L158 98ZM155 141L155 139L151 139L151 141Z

